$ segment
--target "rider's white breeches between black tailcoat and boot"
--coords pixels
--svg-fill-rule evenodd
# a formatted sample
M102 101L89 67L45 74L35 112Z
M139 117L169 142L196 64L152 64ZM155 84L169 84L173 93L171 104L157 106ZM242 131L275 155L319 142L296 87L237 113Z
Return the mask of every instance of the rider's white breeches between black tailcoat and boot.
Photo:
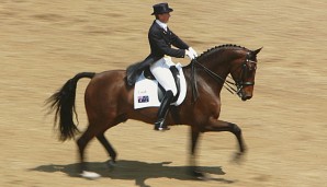
M161 58L150 66L150 71L156 80L162 85L166 91L171 91L173 96L177 94L177 87L173 75L169 69L174 66L170 57Z

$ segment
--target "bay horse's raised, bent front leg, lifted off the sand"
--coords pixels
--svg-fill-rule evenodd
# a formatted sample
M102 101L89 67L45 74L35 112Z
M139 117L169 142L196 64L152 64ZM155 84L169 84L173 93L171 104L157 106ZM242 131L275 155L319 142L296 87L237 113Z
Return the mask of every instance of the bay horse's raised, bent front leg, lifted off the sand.
M240 159L240 156L245 153L246 148L241 136L241 129L236 125L223 120L211 119L210 122L204 126L204 132L207 131L229 131L235 135L237 138L237 142L239 145L239 152L236 154L235 159Z

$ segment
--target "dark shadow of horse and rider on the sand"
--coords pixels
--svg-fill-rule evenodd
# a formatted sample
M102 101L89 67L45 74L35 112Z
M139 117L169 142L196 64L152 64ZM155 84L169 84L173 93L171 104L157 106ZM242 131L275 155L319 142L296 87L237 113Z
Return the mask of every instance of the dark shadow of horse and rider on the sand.
M194 180L194 177L188 174L190 166L169 166L171 162L162 163L146 163L139 161L117 161L114 167L109 167L108 162L89 162L89 171L97 172L102 177L109 177L112 179L128 179L135 180L135 185L139 187L149 187L145 184L146 179L149 178L174 178L180 180ZM37 172L63 172L71 177L80 177L78 174L78 163L68 165L41 165L30 171ZM234 180L227 180L224 178L217 178L213 175L224 175L225 173L219 166L202 166L199 167L204 174L210 174L207 180L216 180L224 184L235 183Z

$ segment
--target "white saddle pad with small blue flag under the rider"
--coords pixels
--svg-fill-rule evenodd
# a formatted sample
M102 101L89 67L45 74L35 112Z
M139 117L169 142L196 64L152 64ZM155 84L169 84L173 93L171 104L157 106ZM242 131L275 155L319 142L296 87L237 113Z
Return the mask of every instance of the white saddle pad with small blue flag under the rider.
M183 69L180 63L176 65L180 77L180 94L172 105L180 105L187 96L187 82ZM159 107L160 101L158 95L159 84L157 80L145 78L144 72L139 75L134 89L134 108Z

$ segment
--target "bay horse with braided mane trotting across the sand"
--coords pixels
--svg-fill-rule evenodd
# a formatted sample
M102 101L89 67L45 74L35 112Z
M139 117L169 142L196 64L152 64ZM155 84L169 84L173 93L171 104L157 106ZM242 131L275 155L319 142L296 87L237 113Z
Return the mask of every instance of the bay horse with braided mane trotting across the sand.
M203 174L195 163L196 143L202 132L229 131L235 135L239 151L245 153L241 129L233 122L219 120L221 91L229 85L230 74L235 86L232 92L243 100L252 97L257 69L257 50L249 50L237 45L216 46L203 52L191 63L183 67L188 90L183 103L171 106L167 115L167 125L188 125L191 128L190 168L191 174L201 177ZM84 149L94 137L105 148L111 162L116 161L116 151L104 137L104 132L127 119L154 124L157 118L157 107L134 109L134 87L127 85L125 70L111 70L101 73L81 72L68 80L66 84L53 94L46 102L50 112L55 112L55 126L58 126L61 141L75 138L79 132L74 122L76 115L75 98L77 82L89 78L84 92L84 105L89 126L77 140L80 156L80 172L84 177L98 177L97 173L86 172ZM229 84L228 84L229 83ZM228 89L230 91L230 89Z

